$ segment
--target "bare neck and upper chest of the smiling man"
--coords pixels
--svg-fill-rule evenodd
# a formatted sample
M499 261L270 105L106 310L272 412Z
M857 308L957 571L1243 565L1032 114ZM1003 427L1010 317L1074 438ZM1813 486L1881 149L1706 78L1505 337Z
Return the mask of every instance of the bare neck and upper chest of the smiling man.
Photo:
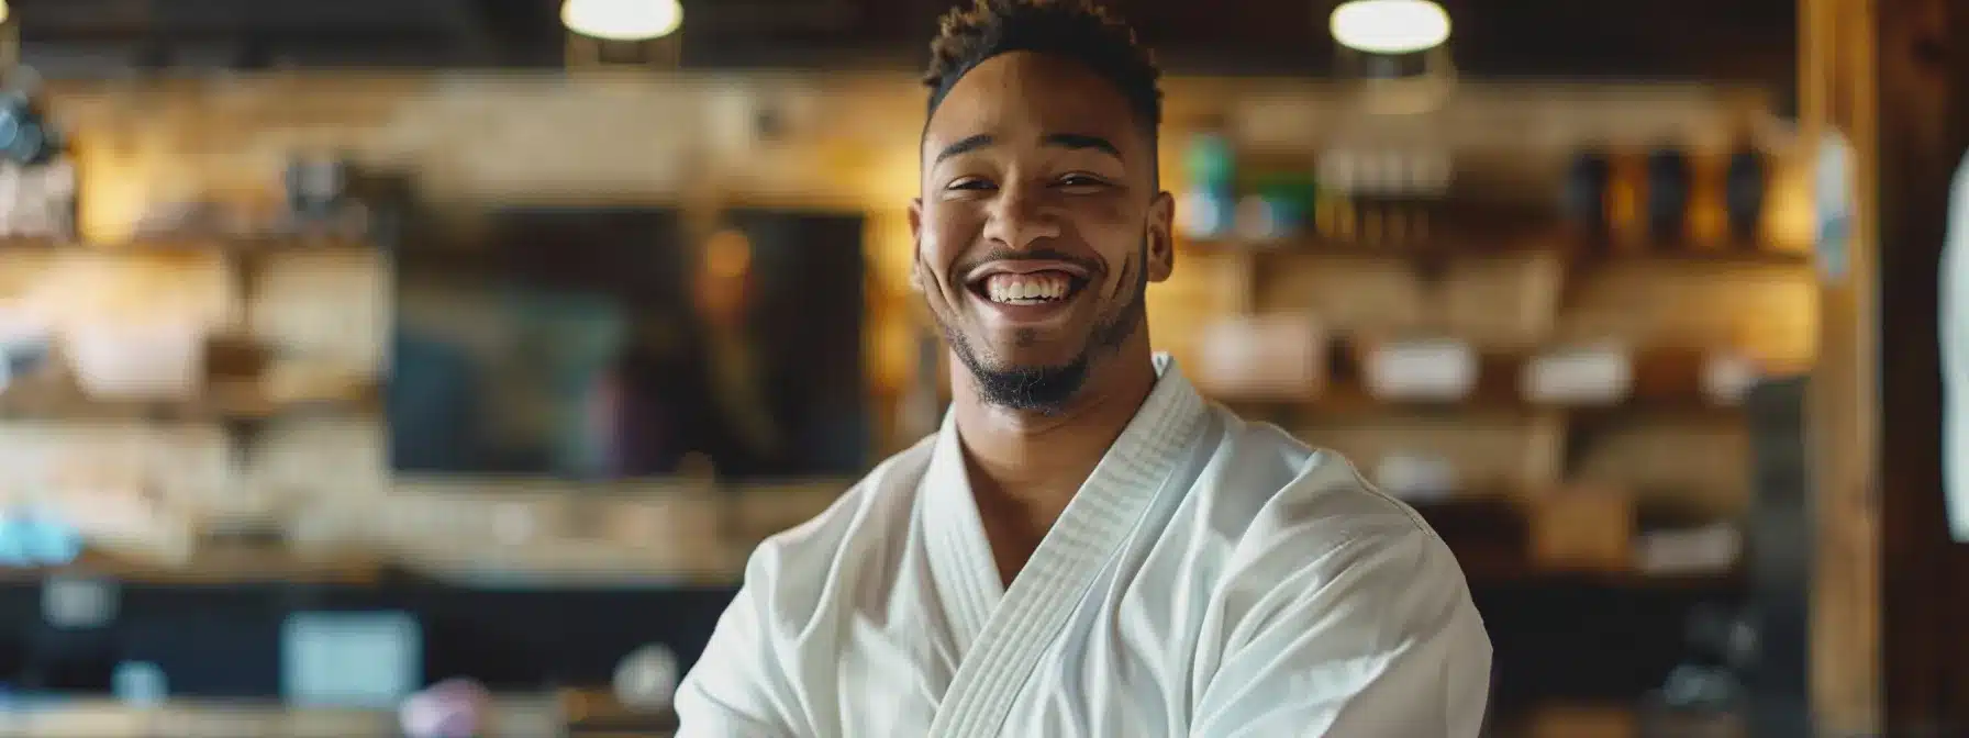
M979 506L1016 508L1040 533L1051 527L1156 388L1146 340L1099 364L1067 407L1036 413L986 403L953 362L957 435Z

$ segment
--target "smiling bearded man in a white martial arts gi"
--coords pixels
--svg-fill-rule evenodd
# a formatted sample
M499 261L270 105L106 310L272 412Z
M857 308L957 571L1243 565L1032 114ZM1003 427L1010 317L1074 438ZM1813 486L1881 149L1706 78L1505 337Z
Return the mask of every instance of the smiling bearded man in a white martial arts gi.
M1128 28L981 0L931 51L912 279L955 401L760 545L681 736L1477 736L1441 539L1150 350L1174 205Z

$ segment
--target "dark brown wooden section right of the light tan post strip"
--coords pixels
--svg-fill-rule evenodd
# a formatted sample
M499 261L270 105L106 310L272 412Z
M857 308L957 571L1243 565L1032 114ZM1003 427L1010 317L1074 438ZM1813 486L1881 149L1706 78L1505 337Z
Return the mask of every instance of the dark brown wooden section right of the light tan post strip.
M1941 490L1939 266L1969 144L1969 6L1873 2L1878 218L1880 730L1969 732L1969 547ZM1953 47L1953 49L1951 49Z

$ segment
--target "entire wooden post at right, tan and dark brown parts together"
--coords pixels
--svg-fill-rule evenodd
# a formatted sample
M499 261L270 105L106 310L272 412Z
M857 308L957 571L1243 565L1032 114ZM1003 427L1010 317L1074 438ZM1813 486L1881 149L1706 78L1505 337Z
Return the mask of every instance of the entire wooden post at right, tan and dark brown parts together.
M1855 150L1851 274L1823 289L1811 697L1823 734L1969 732L1969 545L1941 488L1939 266L1969 146L1969 4L1804 0L1808 136Z

